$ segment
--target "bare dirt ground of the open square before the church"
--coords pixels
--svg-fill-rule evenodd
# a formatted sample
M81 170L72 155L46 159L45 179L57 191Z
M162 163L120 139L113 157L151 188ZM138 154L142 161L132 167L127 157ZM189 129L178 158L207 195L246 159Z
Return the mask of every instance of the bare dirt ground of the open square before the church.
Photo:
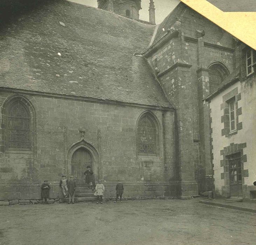
M0 244L256 245L255 214L193 200L0 207Z

